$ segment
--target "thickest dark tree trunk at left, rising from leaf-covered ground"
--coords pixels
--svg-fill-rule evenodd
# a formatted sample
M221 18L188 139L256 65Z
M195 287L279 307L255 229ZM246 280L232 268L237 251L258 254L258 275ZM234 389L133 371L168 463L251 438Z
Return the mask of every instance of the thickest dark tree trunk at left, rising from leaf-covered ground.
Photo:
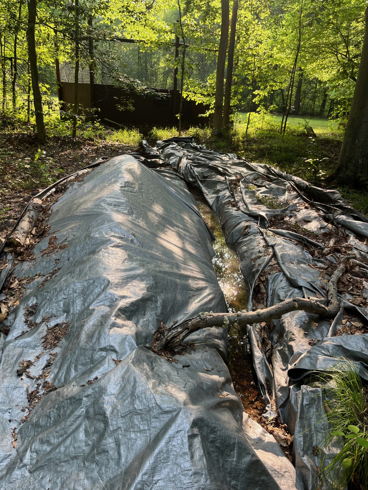
M42 108L42 97L38 83L37 53L35 40L35 25L37 13L37 0L28 0L28 25L27 25L27 42L28 42L28 59L32 81L33 104L36 118L37 136L40 143L46 142L46 131L44 124L44 113Z

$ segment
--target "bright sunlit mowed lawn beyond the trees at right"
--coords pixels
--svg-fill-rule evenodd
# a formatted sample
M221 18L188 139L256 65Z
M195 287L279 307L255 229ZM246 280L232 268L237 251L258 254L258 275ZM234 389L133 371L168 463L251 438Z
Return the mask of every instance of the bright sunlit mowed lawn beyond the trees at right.
M240 126L243 126L244 124L247 124L248 121L248 113L247 112L239 112L237 114L237 123ZM255 113L251 113L250 116L250 126L252 126L252 120L254 120L254 116L256 116L259 124L259 115ZM281 120L282 120L282 114L275 114L272 116L269 116L272 123L277 125L281 125ZM268 118L267 118L268 119ZM254 120L255 121L255 120ZM311 117L311 116L291 116L289 115L288 117L288 126L290 128L296 128L296 127L305 127L306 125L312 126L313 130L315 131L316 134L331 134L331 133L336 133L338 132L338 123L335 121L330 121L327 118L318 118L318 117Z

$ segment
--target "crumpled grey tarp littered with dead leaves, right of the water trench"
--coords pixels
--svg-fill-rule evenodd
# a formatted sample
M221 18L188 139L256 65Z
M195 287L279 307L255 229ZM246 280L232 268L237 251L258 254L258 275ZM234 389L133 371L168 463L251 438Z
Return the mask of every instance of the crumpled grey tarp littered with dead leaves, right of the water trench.
M219 214L226 241L236 248L240 269L249 285L248 309L269 307L296 296L325 300L328 276L322 278L320 269L327 268L329 261L336 263L336 259L315 258L297 242L313 248L322 246L318 236L331 231L332 221L344 227L356 257L367 258L368 246L357 239L357 234L368 237L367 219L351 208L338 191L319 189L266 164L246 162L235 154L207 150L192 138L158 141L154 148L147 142L142 146L141 161L156 155L161 165L171 166L187 183L199 188ZM278 215L301 223L304 229L314 232L315 240L293 231L271 229L269 220ZM368 277L368 267L361 267ZM268 274L267 299L266 304L257 304L255 285L263 273ZM340 296L342 307L367 321L367 310L349 303L350 298L348 293ZM266 416L278 410L291 434L295 433L296 468L309 490L316 486L320 465L313 447L324 440L327 426L321 420L321 393L318 398L318 390L303 385L303 380L341 357L354 362L368 379L368 335L335 337L341 321L342 310L332 324L303 311L292 312L274 320L275 328L266 343L262 325L248 327L254 366L267 405ZM267 385L271 390L267 390ZM336 448L325 454L325 464L335 454Z

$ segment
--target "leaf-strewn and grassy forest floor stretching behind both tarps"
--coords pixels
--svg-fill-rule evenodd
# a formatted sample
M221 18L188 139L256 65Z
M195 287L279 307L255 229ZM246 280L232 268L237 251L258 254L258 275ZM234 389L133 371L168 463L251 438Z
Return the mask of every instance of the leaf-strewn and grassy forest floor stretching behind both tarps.
M336 135L310 137L300 129L282 136L274 128L252 129L245 134L212 137L209 129L190 128L185 136L208 148L234 152L245 159L267 163L317 185L335 168L341 147ZM139 128L114 130L98 128L76 139L50 137L39 145L29 128L0 126L0 239L5 239L30 197L53 181L91 164L102 156L138 151L141 139L153 145L158 139L177 136L175 129ZM368 213L368 193L339 189L357 209Z

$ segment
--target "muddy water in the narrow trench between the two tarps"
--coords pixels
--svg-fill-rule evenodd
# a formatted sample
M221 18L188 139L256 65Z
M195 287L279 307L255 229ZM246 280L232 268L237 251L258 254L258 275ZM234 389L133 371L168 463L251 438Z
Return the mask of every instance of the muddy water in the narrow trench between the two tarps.
M194 189L191 189L191 192L197 200L202 218L215 237L213 242L215 256L212 263L224 292L228 310L230 312L243 310L247 307L248 294L239 269L240 262L237 253L226 244L217 214L210 209L201 193ZM264 412L264 404L257 388L252 356L246 346L245 331L236 331L232 327L228 343L228 368L234 389L242 401L244 410L258 422Z

